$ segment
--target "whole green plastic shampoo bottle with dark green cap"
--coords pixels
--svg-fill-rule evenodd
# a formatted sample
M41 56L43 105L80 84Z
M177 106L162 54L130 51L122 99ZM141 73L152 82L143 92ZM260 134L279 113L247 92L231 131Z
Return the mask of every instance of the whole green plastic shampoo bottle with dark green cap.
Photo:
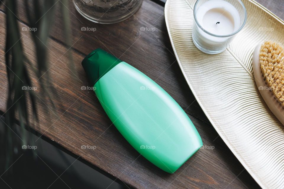
M183 109L141 71L102 49L82 65L114 126L154 165L174 173L201 148L201 137Z

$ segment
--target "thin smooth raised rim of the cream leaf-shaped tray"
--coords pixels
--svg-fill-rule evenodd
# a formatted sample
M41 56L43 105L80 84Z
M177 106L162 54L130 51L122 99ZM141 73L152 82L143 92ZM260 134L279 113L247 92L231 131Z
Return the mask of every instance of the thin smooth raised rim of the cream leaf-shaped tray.
M164 8L164 15L165 15L165 22L166 22L166 26L167 26L167 32L170 38L170 42L172 45L172 49L175 53L175 57L177 59L178 65L180 67L180 70L183 73L183 77L185 78L186 83L188 84L189 88L191 89L191 92L193 93L196 101L198 102L199 106L201 107L202 111L204 112L204 114L206 115L207 119L210 121L210 123L212 124L212 126L214 127L214 129L217 131L218 135L222 138L222 140L225 142L225 144L228 146L228 148L233 152L233 154L235 155L235 157L241 162L241 164L243 165L243 167L249 172L249 174L254 178L254 180L256 181L256 183L259 184L259 186L261 188L267 188L264 183L261 182L260 178L254 174L254 172L248 167L248 165L243 161L243 159L241 159L240 155L238 155L238 153L233 149L233 147L230 145L230 143L228 142L228 140L223 136L223 134L221 133L221 131L219 130L219 128L214 124L212 118L209 116L209 114L207 113L207 111L205 110L204 106L201 103L201 100L199 99L198 95L196 94L195 90L192 90L193 87L191 86L191 83L188 81L188 79L185 77L185 71L183 70L183 67L180 63L180 60L177 56L177 52L175 50L175 45L173 43L172 37L170 35L170 29L168 26L168 15L167 15L167 10L168 8L168 4L170 1L174 1L174 0L167 0L165 3L165 8ZM188 4L187 0L183 0ZM282 19L280 19L278 16L276 16L274 13L272 13L270 10L268 10L266 7L264 7L263 5L259 4L258 2L256 2L255 0L246 0L249 1L251 3L253 3L255 6L258 6L259 8L261 8L262 10L264 10L267 14L269 14L270 16L274 17L277 21L279 21L281 24L284 25L284 21ZM188 6L192 9L191 5L188 4Z

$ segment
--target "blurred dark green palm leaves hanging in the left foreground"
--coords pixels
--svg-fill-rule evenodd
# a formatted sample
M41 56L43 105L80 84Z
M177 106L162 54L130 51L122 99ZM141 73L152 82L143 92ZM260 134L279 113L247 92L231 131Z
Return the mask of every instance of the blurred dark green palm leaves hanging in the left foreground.
M61 2L61 1L60 1ZM37 96L33 90L23 90L24 87L33 86L31 81L28 65L33 68L34 73L38 77L38 83L41 88L42 94L51 102L54 108L53 101L51 99L50 91L56 94L53 90L52 83L49 72L48 72L48 47L47 42L49 38L49 32L52 27L56 4L58 1L55 0L25 0L25 9L27 12L28 26L32 28L37 28L35 32L31 32L33 42L35 45L36 53L36 69L35 66L30 62L30 60L25 56L21 34L19 30L19 18L17 17L17 1L9 0L5 1L6 7L6 48L5 48L5 60L8 78L8 97L7 97L7 108L4 114L5 121L4 124L4 136L0 136L4 140L4 148L1 148L1 156L4 155L4 160L6 166L11 164L13 160L13 154L17 151L20 146L15 141L20 141L26 143L28 141L28 133L25 132L25 125L29 125L29 115L28 110L32 110L33 116L37 121L37 107L36 99ZM59 4L59 3L58 3ZM62 17L64 21L65 36L66 36L66 46L70 48L70 33L67 32L70 28L69 24L69 13L67 11L67 0L62 0L61 10ZM72 62L72 54L68 52L70 61ZM73 66L71 66L73 68ZM44 75L44 77L43 77ZM40 95L40 96L44 96ZM28 103L28 101L30 103ZM30 106L30 107L29 107ZM16 115L19 118L18 124L23 128L20 136L17 134ZM3 142L3 141L2 141ZM3 158L3 157L1 157Z

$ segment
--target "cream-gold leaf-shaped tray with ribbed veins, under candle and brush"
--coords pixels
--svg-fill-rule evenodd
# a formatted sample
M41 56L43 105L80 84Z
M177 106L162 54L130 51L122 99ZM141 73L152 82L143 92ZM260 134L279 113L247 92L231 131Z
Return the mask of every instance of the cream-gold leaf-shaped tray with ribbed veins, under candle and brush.
M191 39L195 0L167 0L165 20L180 69L204 113L262 188L284 188L284 126L256 87L252 52L258 43L284 44L284 22L252 0L248 19L231 45L217 55Z

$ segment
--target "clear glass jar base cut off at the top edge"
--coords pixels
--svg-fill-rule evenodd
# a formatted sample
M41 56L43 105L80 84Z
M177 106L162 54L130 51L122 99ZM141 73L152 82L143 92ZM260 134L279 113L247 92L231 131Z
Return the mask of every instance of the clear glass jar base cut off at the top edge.
M101 24L113 24L131 17L142 0L73 0L77 11L86 19Z

